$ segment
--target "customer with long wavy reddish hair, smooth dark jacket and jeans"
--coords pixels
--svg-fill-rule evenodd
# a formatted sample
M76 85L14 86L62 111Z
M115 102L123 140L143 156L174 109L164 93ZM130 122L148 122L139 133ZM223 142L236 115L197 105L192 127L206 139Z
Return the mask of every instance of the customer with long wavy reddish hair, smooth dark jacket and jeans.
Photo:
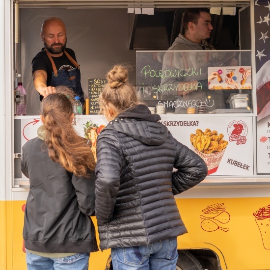
M67 97L69 96L69 97ZM88 270L98 250L95 160L91 145L73 128L72 93L56 87L41 103L38 136L23 146L29 178L23 237L28 270Z

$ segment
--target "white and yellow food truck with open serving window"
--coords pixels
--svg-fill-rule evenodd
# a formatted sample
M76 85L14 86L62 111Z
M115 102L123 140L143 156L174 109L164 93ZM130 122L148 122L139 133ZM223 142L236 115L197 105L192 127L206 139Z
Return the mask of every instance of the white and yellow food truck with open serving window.
M186 7L210 8L215 51L167 51L183 33ZM22 230L29 180L20 162L22 146L41 125L31 61L49 17L64 21L67 47L80 64L90 108L76 119L81 136L94 139L89 129L107 124L97 102L105 74L129 63L141 102L207 163L206 179L175 197L188 229L178 238L177 269L270 270L267 0L0 1L1 269L27 269ZM201 95L190 95L188 81ZM18 82L27 91L26 115L15 115ZM92 253L89 269L104 270L109 253Z

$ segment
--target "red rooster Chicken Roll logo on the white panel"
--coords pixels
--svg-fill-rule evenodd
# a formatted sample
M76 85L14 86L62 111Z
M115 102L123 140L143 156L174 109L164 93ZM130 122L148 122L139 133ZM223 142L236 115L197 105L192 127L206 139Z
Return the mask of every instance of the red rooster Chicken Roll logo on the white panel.
M234 120L228 125L229 141L236 141L236 144L246 142L247 125L242 120Z

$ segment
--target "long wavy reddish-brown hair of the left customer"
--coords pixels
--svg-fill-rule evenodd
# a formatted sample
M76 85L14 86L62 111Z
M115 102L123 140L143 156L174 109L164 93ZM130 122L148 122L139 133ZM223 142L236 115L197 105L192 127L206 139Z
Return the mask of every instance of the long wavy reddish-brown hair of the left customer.
M73 127L73 106L63 93L47 96L41 105L44 140L49 156L67 171L86 176L95 169L91 145Z

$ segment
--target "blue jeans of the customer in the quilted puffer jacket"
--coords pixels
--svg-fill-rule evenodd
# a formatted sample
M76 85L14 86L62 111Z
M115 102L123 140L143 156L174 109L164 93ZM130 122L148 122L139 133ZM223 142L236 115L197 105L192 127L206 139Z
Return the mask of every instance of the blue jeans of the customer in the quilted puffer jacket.
M177 259L176 238L148 246L111 248L113 270L175 270Z

